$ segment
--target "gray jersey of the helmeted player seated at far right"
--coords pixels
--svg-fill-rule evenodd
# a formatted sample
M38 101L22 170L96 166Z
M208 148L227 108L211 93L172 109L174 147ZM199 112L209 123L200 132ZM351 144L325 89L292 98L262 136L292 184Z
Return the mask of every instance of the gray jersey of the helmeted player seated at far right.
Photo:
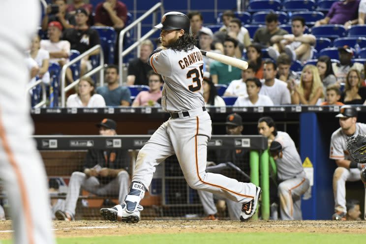
M366 134L366 124L356 123L355 134ZM338 128L333 132L331 137L331 149L329 152L329 158L331 159L347 159L351 160L351 156L347 151L347 135L343 133L342 128Z

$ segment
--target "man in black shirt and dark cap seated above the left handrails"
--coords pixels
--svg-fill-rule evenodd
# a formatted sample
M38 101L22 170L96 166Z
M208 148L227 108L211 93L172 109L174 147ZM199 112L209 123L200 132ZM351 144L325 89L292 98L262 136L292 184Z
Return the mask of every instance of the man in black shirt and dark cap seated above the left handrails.
M71 49L77 50L80 54L83 54L95 45L100 44L99 34L96 30L89 28L87 24L89 15L84 8L78 8L76 10L75 19L75 28L65 30L63 32L63 39L70 42ZM98 55L99 52L99 49L94 50L91 54L81 60L81 75L84 75L91 70L91 61L89 59L91 56Z

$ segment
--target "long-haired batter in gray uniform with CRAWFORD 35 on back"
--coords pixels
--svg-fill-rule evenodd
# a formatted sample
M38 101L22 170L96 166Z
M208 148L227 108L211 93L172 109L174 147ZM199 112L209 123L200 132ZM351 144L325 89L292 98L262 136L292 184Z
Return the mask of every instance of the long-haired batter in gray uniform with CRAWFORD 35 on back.
M256 210L260 187L205 171L211 118L202 95L203 57L189 27L188 17L180 12L164 14L155 26L161 30L162 48L154 50L148 62L165 82L161 106L171 117L140 150L125 201L100 210L105 219L138 222L143 210L140 200L152 181L155 166L172 154L176 154L191 188L242 203L242 221L250 219Z

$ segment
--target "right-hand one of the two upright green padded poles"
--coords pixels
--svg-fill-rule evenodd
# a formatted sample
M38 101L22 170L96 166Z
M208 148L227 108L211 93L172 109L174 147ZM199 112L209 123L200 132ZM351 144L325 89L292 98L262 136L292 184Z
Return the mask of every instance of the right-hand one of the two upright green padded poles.
M265 150L260 155L260 172L261 172L261 188L262 188L262 218L270 218L270 169L269 169L269 153Z

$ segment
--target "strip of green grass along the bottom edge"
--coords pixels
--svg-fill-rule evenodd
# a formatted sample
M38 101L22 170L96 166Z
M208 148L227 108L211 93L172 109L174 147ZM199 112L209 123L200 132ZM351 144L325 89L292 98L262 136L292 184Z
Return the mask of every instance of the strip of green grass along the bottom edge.
M364 234L180 233L58 238L58 244L364 244ZM2 244L11 244L5 240Z

